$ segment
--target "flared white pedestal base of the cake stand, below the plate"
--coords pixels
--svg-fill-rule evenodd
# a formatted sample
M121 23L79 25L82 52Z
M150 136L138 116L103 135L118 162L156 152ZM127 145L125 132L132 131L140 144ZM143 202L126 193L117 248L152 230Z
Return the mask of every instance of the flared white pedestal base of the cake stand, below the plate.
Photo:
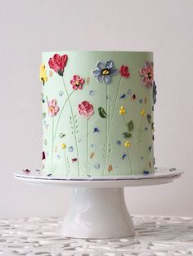
M74 189L61 233L74 238L133 236L123 187Z

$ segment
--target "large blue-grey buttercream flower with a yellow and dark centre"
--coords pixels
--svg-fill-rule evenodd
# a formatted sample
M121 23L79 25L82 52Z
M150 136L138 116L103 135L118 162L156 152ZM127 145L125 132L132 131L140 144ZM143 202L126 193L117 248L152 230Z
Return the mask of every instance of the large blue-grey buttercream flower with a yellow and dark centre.
M111 76L118 74L118 72L118 70L114 69L113 61L98 61L96 64L96 70L92 70L92 74L100 83L110 83Z

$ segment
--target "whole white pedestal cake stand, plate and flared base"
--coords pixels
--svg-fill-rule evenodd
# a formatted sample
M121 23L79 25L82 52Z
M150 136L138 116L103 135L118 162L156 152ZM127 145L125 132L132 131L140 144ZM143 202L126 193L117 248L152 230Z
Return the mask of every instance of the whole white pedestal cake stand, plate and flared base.
M61 233L74 238L118 238L134 236L132 218L124 200L124 186L152 186L173 182L181 170L156 168L153 174L127 177L68 178L40 174L17 174L27 184L72 187L73 195Z

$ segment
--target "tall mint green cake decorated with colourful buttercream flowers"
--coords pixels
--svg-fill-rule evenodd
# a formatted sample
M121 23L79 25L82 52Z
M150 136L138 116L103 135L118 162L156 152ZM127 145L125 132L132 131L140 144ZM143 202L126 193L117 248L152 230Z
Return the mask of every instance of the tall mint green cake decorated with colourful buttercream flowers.
M43 173L153 173L152 52L43 52Z

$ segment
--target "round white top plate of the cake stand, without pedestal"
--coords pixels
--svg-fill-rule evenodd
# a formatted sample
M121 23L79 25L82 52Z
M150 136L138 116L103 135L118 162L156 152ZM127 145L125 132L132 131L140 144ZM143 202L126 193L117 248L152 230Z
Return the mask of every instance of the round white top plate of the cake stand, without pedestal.
M183 171L174 168L156 168L155 173L133 175L127 177L83 177L64 178L64 177L47 177L29 174L14 173L14 177L20 181L28 183L42 183L63 186L148 186L159 185L173 182L177 177L181 177Z

